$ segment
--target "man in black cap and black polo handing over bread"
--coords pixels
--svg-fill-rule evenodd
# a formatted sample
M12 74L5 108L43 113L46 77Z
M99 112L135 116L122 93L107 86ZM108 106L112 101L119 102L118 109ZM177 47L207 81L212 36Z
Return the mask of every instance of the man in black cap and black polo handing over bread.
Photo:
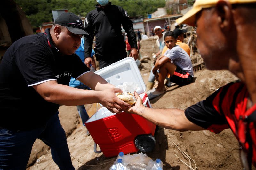
M90 71L75 51L80 46L82 20L61 14L51 29L15 41L0 63L0 169L26 169L36 138L51 147L60 169L74 169L58 109L101 103L113 113L130 107L113 88ZM74 77L93 90L69 87ZM95 91L98 90L98 91Z

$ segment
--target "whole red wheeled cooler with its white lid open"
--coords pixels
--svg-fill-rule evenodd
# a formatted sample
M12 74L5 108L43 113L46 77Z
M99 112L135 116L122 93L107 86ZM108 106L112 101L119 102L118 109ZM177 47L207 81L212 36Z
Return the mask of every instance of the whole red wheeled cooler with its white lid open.
M146 85L132 57L124 58L95 73L115 86L123 85L124 82L136 83L136 92L140 94L143 105L151 107L148 96L144 93ZM125 112L115 114L102 107L92 115L85 126L95 142L94 152L100 153L96 150L98 144L105 157L117 156L119 152L128 154L145 151L145 148L150 148L150 152L155 146L153 136L156 125L139 115Z

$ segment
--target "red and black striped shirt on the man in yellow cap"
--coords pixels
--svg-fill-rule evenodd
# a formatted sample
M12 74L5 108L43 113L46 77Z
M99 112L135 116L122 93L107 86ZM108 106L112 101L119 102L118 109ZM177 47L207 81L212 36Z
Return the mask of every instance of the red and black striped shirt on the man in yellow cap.
M237 140L246 150L252 151L252 163L256 165L255 120L246 122L249 115L256 114L256 105L246 110L248 91L244 83L232 82L185 110L190 122L214 133L231 128ZM248 126L247 126L248 125ZM249 131L250 141L245 131Z

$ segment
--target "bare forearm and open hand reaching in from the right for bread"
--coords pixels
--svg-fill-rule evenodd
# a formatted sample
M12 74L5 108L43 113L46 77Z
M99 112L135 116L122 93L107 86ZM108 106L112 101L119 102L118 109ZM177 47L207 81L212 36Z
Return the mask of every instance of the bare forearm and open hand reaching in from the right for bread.
M144 107L140 96L135 92L137 102L128 112L140 115L160 127L178 131L205 130L204 128L190 122L184 110L180 109L154 109Z

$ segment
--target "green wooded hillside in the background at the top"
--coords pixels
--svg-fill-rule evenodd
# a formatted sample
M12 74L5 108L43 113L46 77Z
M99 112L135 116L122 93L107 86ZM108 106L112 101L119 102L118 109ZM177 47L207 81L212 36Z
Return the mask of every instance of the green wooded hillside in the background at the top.
M52 22L52 10L67 9L80 17L85 17L97 4L96 0L15 0L15 2L25 12L34 28L44 22ZM165 0L110 0L110 2L123 7L130 18L147 17L157 8L165 6Z

